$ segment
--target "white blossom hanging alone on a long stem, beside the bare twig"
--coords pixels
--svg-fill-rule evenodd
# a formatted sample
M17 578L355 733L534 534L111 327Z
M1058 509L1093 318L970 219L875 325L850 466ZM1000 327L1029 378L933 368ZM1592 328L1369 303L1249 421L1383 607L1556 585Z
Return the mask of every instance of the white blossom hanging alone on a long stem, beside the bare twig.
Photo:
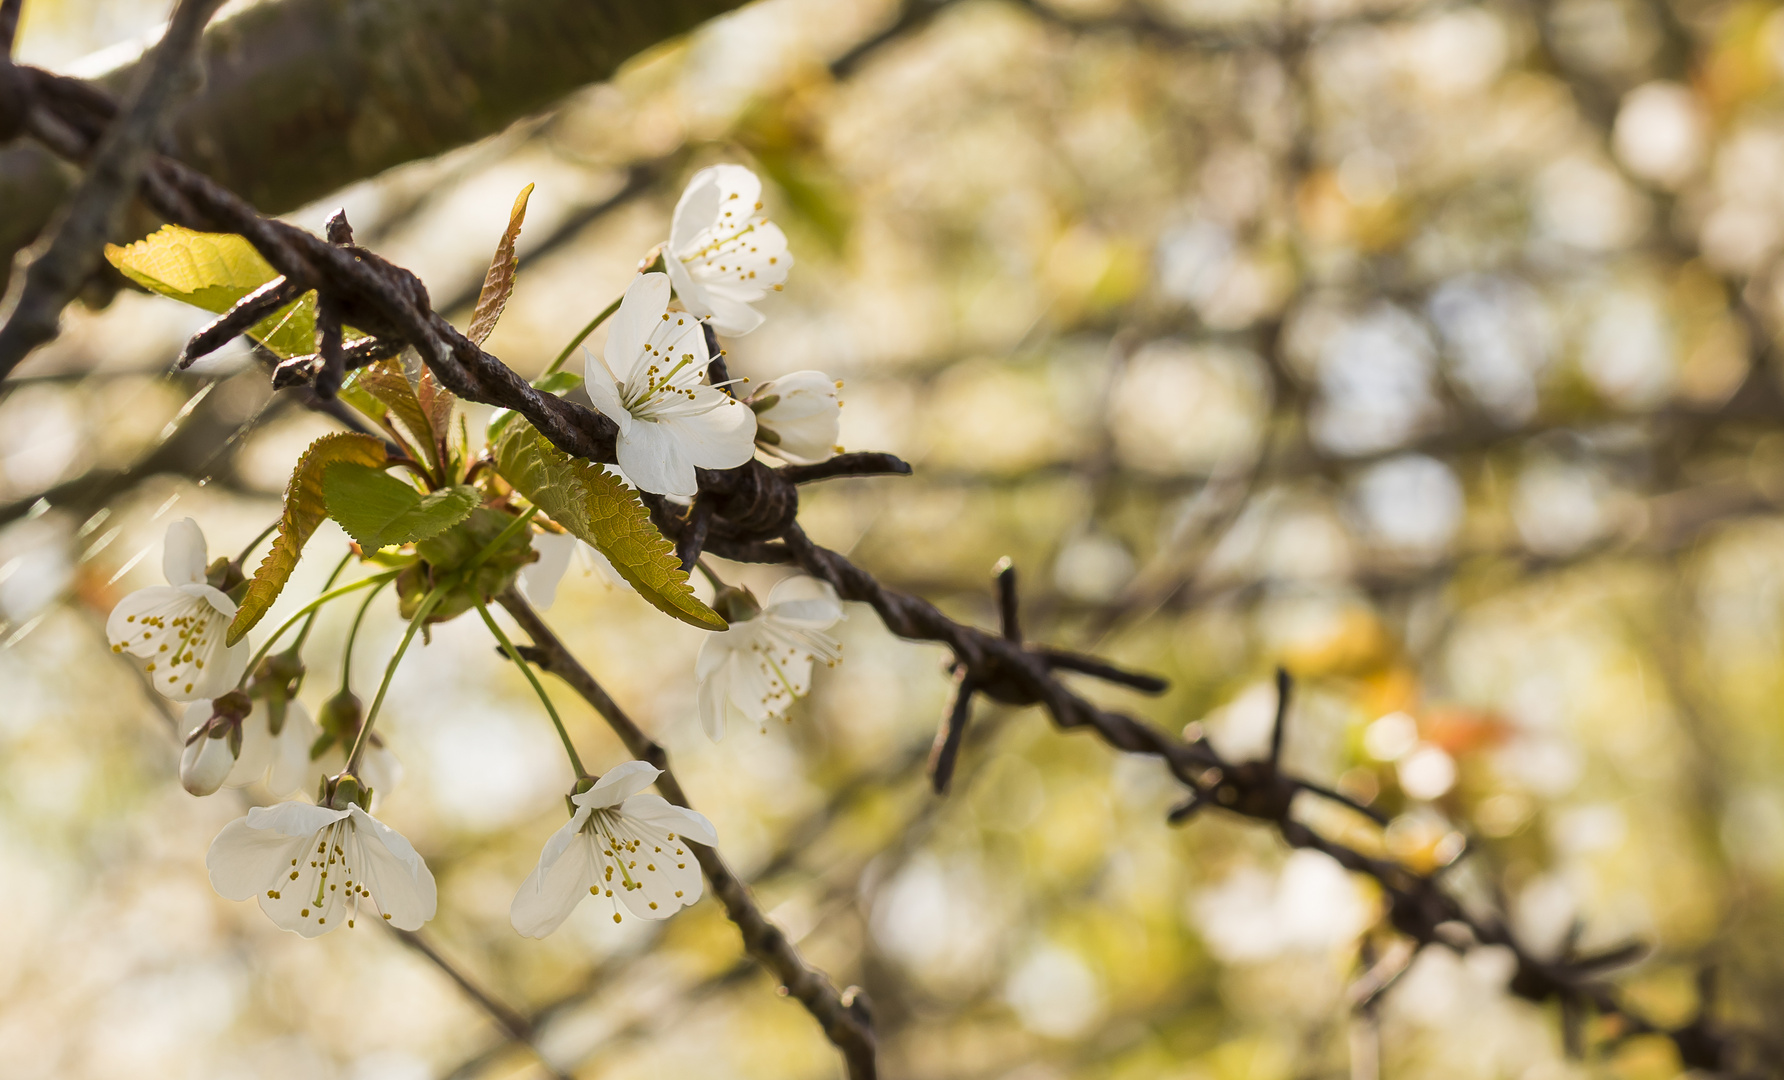
M546 937L585 896L640 919L667 919L699 900L699 864L687 841L717 844L712 823L644 793L662 769L642 760L614 766L594 787L571 796L576 812L551 834L539 866L514 894L508 919L526 937Z

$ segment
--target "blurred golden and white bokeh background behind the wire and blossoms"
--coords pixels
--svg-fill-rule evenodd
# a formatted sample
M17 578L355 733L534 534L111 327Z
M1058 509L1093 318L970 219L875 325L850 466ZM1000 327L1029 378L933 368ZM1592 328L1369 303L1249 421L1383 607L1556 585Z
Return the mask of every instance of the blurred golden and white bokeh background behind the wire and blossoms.
M161 0L32 0L21 57L150 39ZM82 59L86 57L86 59ZM846 380L842 441L912 478L806 489L887 584L1160 671L1101 700L1229 755L1299 678L1290 762L1393 816L1309 819L1449 871L1541 951L1652 944L1663 1021L1784 1009L1784 14L1706 0L767 0L346 207L467 316L516 191L491 350L541 370L740 161L797 266L731 370ZM455 300L457 298L457 300ZM171 718L105 648L166 523L212 553L275 514L330 421L200 321L120 293L0 386L0 1073L537 1076L535 1051L378 932L301 941L218 898ZM473 412L473 430L480 416ZM332 528L332 527L330 527ZM335 532L278 611L312 594ZM758 591L774 571L726 568ZM278 616L275 611L275 616ZM350 611L309 650L314 709ZM1663 1078L1663 1039L1568 1060L1495 950L1433 950L1379 1007L1374 887L1274 834L1165 825L1156 762L981 705L954 791L922 755L944 653L867 609L787 725L699 732L699 634L574 571L549 621L669 746L723 850L838 985L888 1076ZM271 627L273 623L266 623ZM400 623L373 609L353 685ZM560 689L560 687L558 687ZM591 768L624 757L558 693ZM380 816L441 882L428 935L576 1076L837 1076L710 900L517 937L567 784L475 619L400 671Z

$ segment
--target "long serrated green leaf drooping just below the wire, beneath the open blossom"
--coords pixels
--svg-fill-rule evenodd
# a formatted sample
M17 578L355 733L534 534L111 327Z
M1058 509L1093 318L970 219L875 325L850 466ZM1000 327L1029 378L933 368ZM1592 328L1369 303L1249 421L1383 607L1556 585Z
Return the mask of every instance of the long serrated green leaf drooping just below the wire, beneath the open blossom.
M674 546L651 525L639 493L601 466L553 446L519 416L496 439L496 471L553 521L607 555L640 596L683 623L724 630L687 584Z

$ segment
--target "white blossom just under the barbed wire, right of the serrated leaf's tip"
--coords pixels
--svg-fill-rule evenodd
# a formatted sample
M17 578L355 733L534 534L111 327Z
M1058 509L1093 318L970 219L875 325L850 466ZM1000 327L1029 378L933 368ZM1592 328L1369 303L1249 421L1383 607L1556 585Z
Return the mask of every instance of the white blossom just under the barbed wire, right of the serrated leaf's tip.
M842 603L830 582L792 577L758 607L747 589L726 589L715 602L731 627L699 644L694 677L699 682L699 719L714 743L730 718L758 727L785 716L812 687L812 660L835 666L842 644L824 634L842 619Z

